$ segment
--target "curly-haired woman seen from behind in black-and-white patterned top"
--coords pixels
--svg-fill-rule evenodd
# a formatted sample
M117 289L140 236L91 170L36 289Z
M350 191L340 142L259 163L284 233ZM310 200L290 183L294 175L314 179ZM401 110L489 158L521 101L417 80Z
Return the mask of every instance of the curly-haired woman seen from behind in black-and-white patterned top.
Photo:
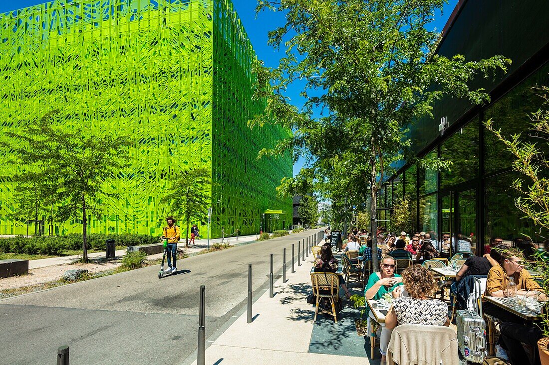
M432 273L421 265L413 265L401 275L410 296L393 300L393 306L385 316L385 327L393 329L406 323L450 326L448 306L444 301L432 298L438 290Z

